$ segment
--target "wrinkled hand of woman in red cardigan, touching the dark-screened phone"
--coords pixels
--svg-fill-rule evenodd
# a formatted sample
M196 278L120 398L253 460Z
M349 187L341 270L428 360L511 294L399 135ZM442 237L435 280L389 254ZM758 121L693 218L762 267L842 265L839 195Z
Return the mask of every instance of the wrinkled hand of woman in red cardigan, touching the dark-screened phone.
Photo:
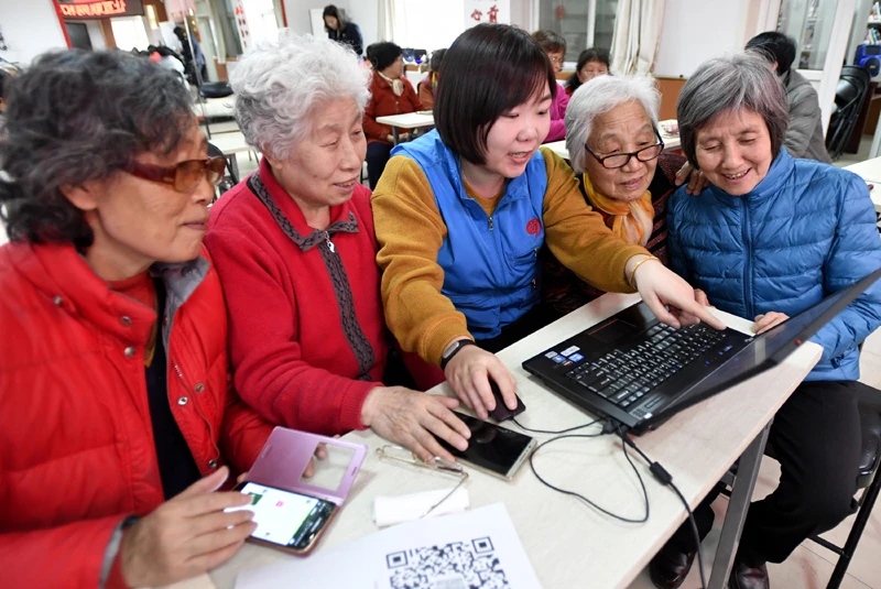
M403 386L377 386L365 400L361 423L425 462L435 456L454 461L455 457L434 436L459 450L468 448L471 432L452 411L458 406L458 401L446 396Z

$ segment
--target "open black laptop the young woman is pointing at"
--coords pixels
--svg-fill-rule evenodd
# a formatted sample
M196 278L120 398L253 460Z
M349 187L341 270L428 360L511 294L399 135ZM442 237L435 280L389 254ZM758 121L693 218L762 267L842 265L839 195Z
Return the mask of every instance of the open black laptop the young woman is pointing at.
M674 329L638 303L523 368L579 407L639 435L781 363L879 277L881 269L759 336L705 324Z

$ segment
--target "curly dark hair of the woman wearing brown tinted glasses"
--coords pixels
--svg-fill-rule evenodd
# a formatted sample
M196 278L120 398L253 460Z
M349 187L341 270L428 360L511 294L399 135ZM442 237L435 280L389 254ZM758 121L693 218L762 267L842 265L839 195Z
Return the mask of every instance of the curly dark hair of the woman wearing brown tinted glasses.
M120 51L46 53L15 79L0 139L0 217L9 238L91 246L62 193L124 170L146 152L168 155L195 124L172 73Z

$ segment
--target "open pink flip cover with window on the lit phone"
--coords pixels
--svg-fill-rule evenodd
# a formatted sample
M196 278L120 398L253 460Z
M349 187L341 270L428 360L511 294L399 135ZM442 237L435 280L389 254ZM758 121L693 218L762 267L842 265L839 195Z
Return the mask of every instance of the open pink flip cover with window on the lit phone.
M300 480L319 443L352 450L351 461L337 489L314 487ZM260 450L260 456L248 472L246 480L324 499L340 506L346 501L366 456L367 446L363 444L352 444L338 438L276 426L263 449Z

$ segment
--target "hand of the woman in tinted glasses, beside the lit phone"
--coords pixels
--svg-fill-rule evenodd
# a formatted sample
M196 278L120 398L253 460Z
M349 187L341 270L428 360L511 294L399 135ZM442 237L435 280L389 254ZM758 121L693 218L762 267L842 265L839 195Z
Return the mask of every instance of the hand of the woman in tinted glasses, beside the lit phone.
M257 530L249 495L215 492L229 476L217 472L194 482L177 497L139 520L122 536L122 576L130 587L176 582L225 563Z

